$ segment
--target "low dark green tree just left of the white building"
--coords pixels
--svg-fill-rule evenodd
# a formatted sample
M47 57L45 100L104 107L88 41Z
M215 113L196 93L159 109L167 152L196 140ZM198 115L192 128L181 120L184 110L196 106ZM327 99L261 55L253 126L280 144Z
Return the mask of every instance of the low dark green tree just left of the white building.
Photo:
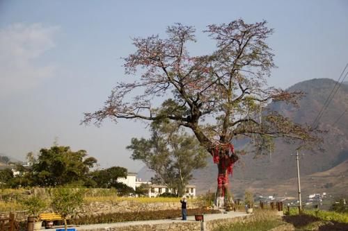
M93 187L111 188L117 186L118 178L127 177L127 169L120 166L112 166L109 169L95 170L89 174L88 184Z

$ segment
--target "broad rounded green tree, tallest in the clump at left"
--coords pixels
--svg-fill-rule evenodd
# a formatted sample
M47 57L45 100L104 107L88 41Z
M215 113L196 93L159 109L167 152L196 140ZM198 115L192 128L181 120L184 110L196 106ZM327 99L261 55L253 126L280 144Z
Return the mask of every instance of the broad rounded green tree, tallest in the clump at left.
M74 152L69 146L42 148L37 160L32 158L33 184L56 186L84 181L90 167L97 162L94 157L86 156L86 151Z

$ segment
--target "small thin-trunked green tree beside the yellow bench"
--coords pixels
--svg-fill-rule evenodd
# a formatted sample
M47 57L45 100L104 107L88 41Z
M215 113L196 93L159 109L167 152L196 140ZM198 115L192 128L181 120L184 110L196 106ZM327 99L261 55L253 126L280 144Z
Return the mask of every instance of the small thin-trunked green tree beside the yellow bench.
M64 228L67 230L67 219L74 214L76 209L84 202L83 191L79 189L57 188L52 198L54 212L61 215Z

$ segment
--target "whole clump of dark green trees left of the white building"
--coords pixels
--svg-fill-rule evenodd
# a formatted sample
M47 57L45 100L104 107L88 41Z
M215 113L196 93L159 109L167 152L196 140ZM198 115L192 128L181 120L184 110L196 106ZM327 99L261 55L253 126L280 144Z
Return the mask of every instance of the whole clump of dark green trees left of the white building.
M97 164L95 157L88 157L86 151L72 151L69 146L41 148L36 157L28 153L29 166L16 164L0 171L0 187L62 187L66 185L116 188L119 195L134 193L134 189L118 182L127 177L127 169L111 166L108 169L91 169Z

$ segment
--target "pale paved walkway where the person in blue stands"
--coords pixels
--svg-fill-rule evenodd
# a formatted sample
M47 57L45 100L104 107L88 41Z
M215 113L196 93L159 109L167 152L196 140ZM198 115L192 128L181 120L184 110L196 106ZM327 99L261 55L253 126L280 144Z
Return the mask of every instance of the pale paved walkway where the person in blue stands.
M224 212L221 214L204 214L204 221L212 221L218 219L229 219L239 216L248 216L245 212ZM130 225L154 225L154 224L165 224L165 223L180 223L180 222L197 222L194 216L187 216L187 221L182 221L181 218L177 219L162 219L162 220L152 220L152 221L127 221L127 222L118 222L118 223L104 223L104 224L95 224L95 225L79 225L74 226L79 230L96 230L96 229L105 229L113 227L127 227ZM54 228L56 229L56 228ZM53 229L49 229L53 230Z

